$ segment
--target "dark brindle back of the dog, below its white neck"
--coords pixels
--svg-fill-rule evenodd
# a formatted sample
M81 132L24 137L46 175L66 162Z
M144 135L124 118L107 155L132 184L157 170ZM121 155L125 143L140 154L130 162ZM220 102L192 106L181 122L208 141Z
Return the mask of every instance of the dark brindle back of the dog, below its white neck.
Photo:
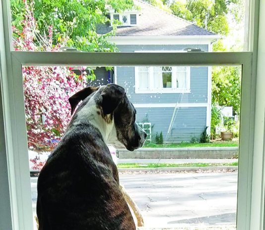
M38 179L39 230L135 229L100 135L88 122L79 123L49 157Z

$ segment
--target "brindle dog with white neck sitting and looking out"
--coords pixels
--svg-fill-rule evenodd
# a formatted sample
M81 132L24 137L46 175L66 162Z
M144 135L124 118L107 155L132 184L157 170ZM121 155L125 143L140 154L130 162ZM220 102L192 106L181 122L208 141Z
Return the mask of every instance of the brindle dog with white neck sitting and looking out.
M39 174L39 230L135 230L107 144L133 151L147 134L118 85L77 92L69 98L71 114L80 101Z

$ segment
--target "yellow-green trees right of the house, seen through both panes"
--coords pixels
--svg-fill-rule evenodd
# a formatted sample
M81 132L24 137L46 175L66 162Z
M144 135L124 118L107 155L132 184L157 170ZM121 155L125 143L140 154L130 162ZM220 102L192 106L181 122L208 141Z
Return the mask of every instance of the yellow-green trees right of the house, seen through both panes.
M198 26L217 34L227 36L229 33L228 16L232 16L236 23L243 19L242 0L176 0L170 8L172 13L189 20ZM218 39L213 44L213 51L232 51L225 47L223 40ZM212 68L212 104L232 106L233 112L240 112L241 71L238 67ZM212 117L214 119L214 117Z

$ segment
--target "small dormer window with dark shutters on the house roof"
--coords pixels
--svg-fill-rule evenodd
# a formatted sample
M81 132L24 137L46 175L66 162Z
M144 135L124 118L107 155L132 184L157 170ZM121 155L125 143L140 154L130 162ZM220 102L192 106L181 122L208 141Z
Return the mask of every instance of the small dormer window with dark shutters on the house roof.
M138 14L136 14L136 11L131 12L123 12L123 13L115 13L111 12L111 20L118 20L122 22L122 25L120 26L128 26L128 25L137 25L138 24Z

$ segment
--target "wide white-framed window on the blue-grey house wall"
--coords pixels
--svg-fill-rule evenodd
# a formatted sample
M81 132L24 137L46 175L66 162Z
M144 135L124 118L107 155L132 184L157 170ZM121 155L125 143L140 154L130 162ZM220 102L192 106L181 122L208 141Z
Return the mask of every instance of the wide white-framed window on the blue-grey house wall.
M135 67L135 93L189 93L190 67Z

